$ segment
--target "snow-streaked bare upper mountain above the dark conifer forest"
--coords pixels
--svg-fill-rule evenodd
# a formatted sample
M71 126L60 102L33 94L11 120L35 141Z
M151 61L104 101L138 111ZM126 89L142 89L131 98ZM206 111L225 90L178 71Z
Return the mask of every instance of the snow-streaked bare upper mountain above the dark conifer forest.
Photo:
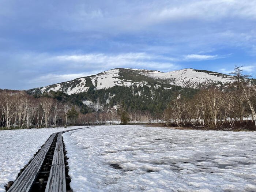
M69 95L86 92L90 87L95 90L108 89L114 86L143 86L154 83L172 89L173 85L194 89L225 86L234 78L229 75L196 69L181 69L171 72L151 71L145 69L116 68L97 75L77 78L68 82L57 83L30 90L31 92L63 91Z

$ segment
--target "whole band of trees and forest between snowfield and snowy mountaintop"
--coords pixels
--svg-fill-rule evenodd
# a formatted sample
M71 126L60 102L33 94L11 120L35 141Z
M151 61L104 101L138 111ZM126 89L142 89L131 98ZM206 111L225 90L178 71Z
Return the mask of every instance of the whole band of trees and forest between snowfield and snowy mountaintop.
M105 93L89 90L74 95L0 90L0 125L10 129L160 120L167 126L255 129L255 83L246 79L248 76L242 74L241 66L236 66L233 74L236 81L225 90L216 87L165 90L153 84L116 86ZM93 111L83 104L84 99L111 102L103 110ZM117 110L114 105L118 106Z

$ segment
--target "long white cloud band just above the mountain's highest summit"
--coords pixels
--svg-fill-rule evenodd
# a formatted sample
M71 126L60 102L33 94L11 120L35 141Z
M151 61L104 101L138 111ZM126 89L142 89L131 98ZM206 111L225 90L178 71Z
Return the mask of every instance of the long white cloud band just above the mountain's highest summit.
M72 64L81 64L90 66L90 68L118 68L118 67L137 67L137 68L155 68L169 69L178 68L177 64L170 63L174 61L172 57L164 57L147 53L123 53L123 54L83 54L83 55L62 55L51 58L57 62L70 62Z

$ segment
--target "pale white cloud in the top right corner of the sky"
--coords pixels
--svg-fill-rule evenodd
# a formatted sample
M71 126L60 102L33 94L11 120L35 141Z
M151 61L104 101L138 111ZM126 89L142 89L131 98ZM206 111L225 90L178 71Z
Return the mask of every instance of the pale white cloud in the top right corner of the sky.
M167 4L151 14L153 20L219 20L221 18L256 18L255 0L196 0Z

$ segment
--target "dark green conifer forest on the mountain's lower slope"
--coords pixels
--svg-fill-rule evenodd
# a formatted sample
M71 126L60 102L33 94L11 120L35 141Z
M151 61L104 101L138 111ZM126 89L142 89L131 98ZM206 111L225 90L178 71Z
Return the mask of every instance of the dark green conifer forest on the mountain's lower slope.
M182 88L172 86L172 89L150 84L150 86L114 86L109 89L94 90L90 88L87 92L79 94L65 94L61 91L44 92L43 94L34 94L34 97L50 97L61 102L70 102L80 108L80 112L109 111L123 101L131 111L141 110L149 111L154 114L155 111L163 111L172 99L177 97L192 98L198 90L191 88ZM90 101L87 106L84 101ZM100 106L97 108L97 105Z

